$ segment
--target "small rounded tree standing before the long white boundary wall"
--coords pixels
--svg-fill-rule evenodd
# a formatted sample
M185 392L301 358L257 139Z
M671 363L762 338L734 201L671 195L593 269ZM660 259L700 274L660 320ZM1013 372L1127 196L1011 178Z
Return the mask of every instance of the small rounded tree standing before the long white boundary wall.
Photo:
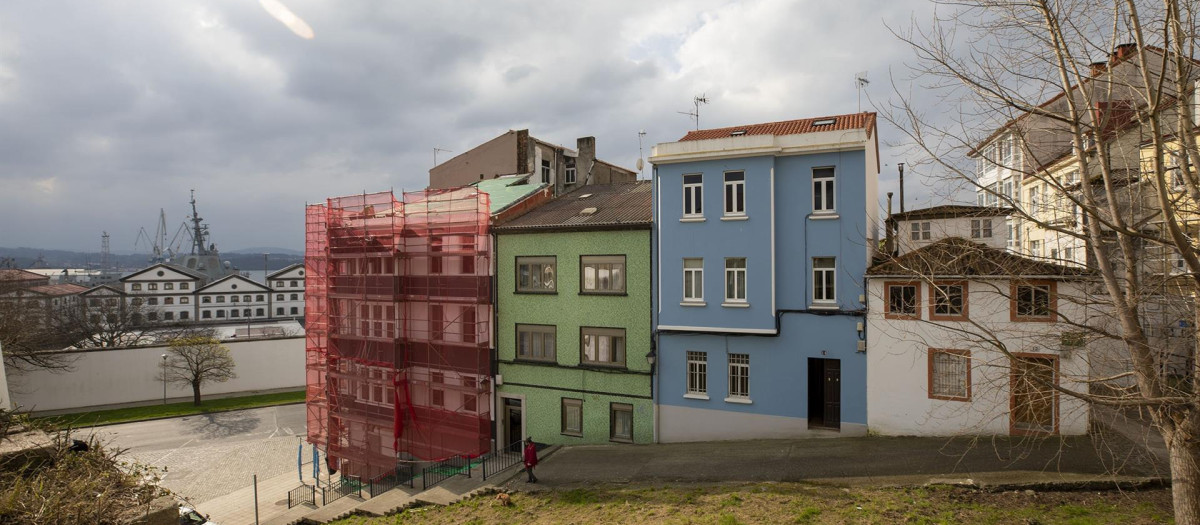
M170 342L160 366L160 379L192 387L192 403L200 405L200 387L236 378L229 349L211 336L182 336Z

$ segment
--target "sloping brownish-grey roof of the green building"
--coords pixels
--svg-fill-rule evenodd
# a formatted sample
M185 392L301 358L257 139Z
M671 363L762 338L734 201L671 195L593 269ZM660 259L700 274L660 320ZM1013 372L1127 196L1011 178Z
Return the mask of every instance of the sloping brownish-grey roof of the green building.
M496 230L648 227L654 218L650 195L650 181L584 186L521 217L498 224Z

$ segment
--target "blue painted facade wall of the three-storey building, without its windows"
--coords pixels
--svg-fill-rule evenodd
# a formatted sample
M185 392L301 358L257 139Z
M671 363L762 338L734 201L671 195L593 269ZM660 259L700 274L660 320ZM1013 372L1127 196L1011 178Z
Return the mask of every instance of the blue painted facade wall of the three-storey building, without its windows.
M835 169L835 218L812 218L812 169L823 167ZM724 173L730 170L745 171L745 221L722 221ZM703 175L702 222L680 221L685 174ZM665 440L688 440L682 434L696 424L694 417L672 416L682 414L672 408L714 411L714 422L721 421L720 414L772 416L736 420L743 427L748 421L761 422L750 424L763 428L731 429L730 437L779 436L779 428L768 427L787 427L788 418L798 423L809 417L809 358L839 360L842 427L862 426L865 432L866 360L857 351L865 334L857 328L864 321L860 296L870 253L866 177L874 175L866 174L863 150L655 167L658 403ZM749 307L724 307L725 258L742 257L746 258ZM816 257L836 258L833 308L812 309ZM684 258L703 258L704 306L680 304ZM688 351L707 354L708 399L684 397ZM728 354L750 356L749 404L726 400ZM726 421L733 424L734 420ZM679 428L671 428L677 423ZM713 437L720 435L706 435Z

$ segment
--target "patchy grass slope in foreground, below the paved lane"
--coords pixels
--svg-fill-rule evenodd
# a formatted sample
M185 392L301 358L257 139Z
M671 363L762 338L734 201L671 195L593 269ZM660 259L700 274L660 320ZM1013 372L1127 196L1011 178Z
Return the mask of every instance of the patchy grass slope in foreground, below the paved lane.
M612 485L515 493L512 506L475 497L418 507L383 524L1158 524L1171 523L1168 489L983 493L955 488L851 488L805 483Z

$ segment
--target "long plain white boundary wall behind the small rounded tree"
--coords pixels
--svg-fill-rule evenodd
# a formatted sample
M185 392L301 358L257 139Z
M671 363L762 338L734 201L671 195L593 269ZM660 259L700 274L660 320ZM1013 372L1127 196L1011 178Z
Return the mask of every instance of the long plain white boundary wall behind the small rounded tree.
M236 379L205 385L203 396L304 388L305 338L224 342L236 363ZM30 411L83 409L162 399L158 363L167 346L74 351L71 372L8 374L12 403ZM168 385L167 397L192 398L191 387Z

